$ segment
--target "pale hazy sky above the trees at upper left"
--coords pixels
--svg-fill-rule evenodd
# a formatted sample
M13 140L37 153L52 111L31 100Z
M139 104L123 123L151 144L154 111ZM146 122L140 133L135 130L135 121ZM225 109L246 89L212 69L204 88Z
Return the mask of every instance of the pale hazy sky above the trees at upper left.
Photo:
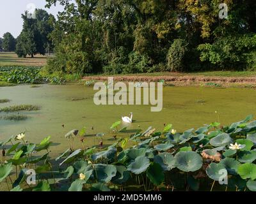
M48 13L52 13L55 17L58 11L63 11L63 7L59 4L51 6L50 9L45 8L45 0L1 0L0 1L0 38L3 34L10 32L14 38L19 36L22 31L21 14L26 10L33 8L42 8Z

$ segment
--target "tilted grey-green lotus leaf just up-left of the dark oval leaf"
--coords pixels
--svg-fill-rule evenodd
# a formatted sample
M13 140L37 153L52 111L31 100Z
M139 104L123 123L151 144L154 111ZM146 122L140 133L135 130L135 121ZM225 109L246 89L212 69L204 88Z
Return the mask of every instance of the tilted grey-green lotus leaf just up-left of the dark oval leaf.
M147 170L150 165L149 159L145 156L137 157L134 162L129 164L127 170L135 174L140 174Z

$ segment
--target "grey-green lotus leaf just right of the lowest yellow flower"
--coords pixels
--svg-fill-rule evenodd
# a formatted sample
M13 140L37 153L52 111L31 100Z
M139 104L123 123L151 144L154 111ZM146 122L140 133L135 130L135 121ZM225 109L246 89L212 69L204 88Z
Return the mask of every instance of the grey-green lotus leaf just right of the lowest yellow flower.
M116 175L116 167L109 164L95 164L94 177L99 182L108 183Z

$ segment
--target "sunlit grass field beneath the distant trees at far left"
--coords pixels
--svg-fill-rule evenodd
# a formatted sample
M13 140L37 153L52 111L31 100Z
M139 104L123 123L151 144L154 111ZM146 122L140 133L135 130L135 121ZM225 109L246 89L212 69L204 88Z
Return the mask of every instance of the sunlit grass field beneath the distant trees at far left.
M47 57L35 55L34 58L19 58L14 52L0 52L0 66L44 66Z

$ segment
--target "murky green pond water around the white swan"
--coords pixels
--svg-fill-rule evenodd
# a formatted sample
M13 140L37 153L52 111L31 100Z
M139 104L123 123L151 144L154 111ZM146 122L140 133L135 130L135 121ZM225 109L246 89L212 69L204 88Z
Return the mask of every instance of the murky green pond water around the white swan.
M97 106L93 103L94 93L92 87L74 84L41 85L38 88L31 88L30 85L0 87L0 99L11 99L10 103L0 104L0 108L22 104L42 107L37 112L20 112L29 116L24 121L0 119L0 141L25 130L26 139L31 142L40 142L51 135L54 142L51 156L57 156L70 146L65 134L84 126L87 128L86 147L99 144L100 139L95 136L97 133L106 133L104 145L113 143L113 135L116 134L109 127L130 112L133 112L136 121L129 124L130 133L119 133L118 136L129 136L136 129L147 129L149 126L162 131L164 123L172 123L177 131L198 128L218 120L215 111L220 114L221 124L230 124L256 113L255 89L164 87L161 112L150 112L151 105ZM84 99L72 101L72 98ZM0 116L6 114L0 113ZM75 148L81 147L77 138Z

